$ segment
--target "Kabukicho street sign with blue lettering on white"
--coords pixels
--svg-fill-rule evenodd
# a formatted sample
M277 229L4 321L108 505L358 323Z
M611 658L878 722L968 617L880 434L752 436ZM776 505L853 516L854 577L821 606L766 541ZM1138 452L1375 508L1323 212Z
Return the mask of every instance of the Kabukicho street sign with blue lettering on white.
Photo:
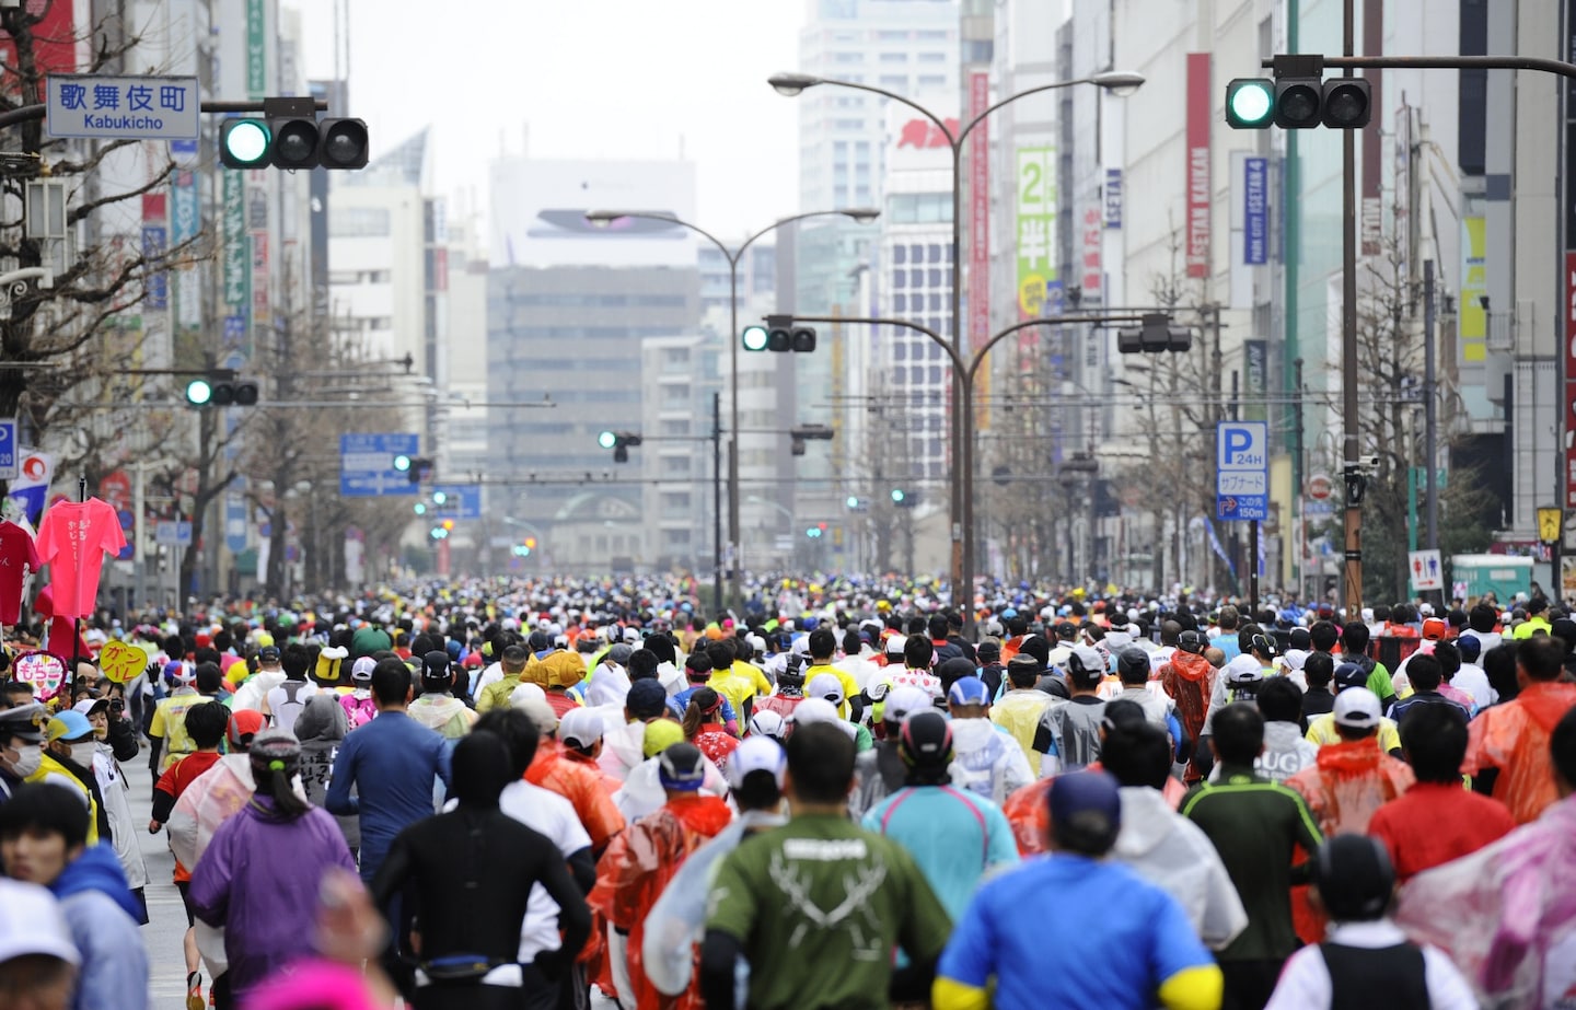
M195 77L50 74L44 129L93 140L195 140Z

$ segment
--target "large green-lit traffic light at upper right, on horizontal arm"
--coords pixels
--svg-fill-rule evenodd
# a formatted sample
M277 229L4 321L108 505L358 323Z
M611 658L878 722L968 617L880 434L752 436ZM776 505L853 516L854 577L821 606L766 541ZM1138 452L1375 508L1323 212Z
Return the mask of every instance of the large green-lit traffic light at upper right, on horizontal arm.
M1286 57L1277 57L1286 60ZM1373 118L1366 77L1324 79L1322 61L1291 57L1275 77L1237 77L1226 84L1226 124L1232 129L1362 129Z

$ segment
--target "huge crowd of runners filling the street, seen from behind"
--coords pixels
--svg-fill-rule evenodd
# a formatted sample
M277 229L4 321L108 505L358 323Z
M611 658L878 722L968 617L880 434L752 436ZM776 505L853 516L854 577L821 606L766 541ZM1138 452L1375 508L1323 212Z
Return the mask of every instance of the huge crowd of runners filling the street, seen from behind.
M1576 1007L1557 602L692 591L11 629L0 1010Z

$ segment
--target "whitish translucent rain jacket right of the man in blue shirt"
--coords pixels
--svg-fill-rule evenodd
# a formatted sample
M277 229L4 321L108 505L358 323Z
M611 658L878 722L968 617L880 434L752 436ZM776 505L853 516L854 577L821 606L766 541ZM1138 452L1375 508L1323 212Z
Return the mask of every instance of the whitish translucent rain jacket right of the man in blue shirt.
M1113 856L1182 906L1199 939L1220 950L1248 928L1248 912L1215 845L1160 789L1122 786L1122 832Z

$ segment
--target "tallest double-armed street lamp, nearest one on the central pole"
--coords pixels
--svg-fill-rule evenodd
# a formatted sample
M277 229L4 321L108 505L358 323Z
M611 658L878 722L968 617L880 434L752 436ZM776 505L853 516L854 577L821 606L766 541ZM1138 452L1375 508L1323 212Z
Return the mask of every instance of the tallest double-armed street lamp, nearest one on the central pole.
M952 148L952 304L950 304L952 347L950 350L953 364L960 366L960 362L963 362L966 358L965 348L969 347L963 334L963 189L961 189L963 143L965 140L968 140L969 132L982 121L985 121L985 117L988 117L990 113L996 112L1004 106L1010 106L1020 98L1028 98L1029 95L1040 95L1043 91L1056 91L1059 88L1070 88L1073 85L1087 84L1097 88L1103 88L1116 96L1127 96L1136 91L1139 87L1143 87L1144 76L1133 71L1102 71L1089 77L1075 77L1073 80L1057 80L1053 84L1043 84L1034 88L1026 88L1023 91L1018 91L1017 95L1009 95L1007 98L998 101L994 106L990 106L988 109L980 112L968 123L955 126L953 129L947 128L947 123L942 117L938 117L935 112L920 106L919 102L905 98L895 91L887 91L886 88L878 88L868 84L857 84L853 80L835 80L831 77L815 77L812 74L786 74L786 72L768 77L766 84L769 84L772 90L775 90L779 95L783 95L786 98L799 96L805 91L805 88L813 88L823 84L879 95L898 104L908 106L914 112L920 113L922 117L930 120L936 126L936 129L941 131L942 137L947 139L947 145ZM980 337L983 339L985 334L980 334ZM960 367L955 367L952 372L952 394L957 403L963 402L965 380L963 375L960 373ZM963 418L960 418L958 411L953 410L952 432L950 432L953 446L963 447L961 443L963 443L965 427L966 425ZM952 460L953 468L963 465L963 455L965 455L963 452L953 451L953 460ZM969 572L968 575L965 574L965 555L971 555L972 547L963 542L963 537L966 536L966 531L969 528L969 523L965 522L965 514L969 511L969 506L961 499L961 493L963 493L961 484L953 481L952 504L949 509L952 518L952 575L953 575L952 596L955 602L961 597L966 627L972 630L974 581L972 581L972 572Z

